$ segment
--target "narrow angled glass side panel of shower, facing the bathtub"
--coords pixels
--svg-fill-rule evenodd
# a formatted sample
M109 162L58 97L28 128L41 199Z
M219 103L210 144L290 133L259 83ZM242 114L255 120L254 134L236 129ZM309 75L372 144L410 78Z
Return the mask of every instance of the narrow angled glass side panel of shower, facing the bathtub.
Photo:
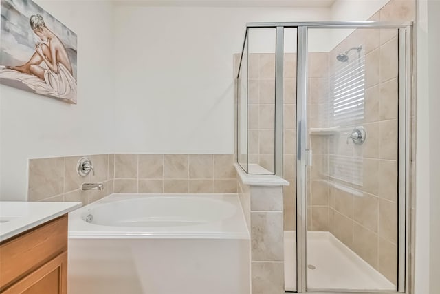
M236 71L240 70L236 81L237 103L237 161L248 172L248 38L243 54L236 55Z

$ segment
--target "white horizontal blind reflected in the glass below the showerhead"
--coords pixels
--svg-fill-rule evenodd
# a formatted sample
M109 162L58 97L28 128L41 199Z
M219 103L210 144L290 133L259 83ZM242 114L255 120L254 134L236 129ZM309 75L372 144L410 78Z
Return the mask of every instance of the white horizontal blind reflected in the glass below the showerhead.
M351 50L349 61L336 61L331 76L331 113L334 126L355 125L364 119L365 54Z

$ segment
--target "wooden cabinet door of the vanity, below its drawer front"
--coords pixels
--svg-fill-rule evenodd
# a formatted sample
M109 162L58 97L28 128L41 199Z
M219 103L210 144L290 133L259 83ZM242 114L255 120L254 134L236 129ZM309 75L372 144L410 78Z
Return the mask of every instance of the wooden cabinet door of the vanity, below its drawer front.
M2 294L66 294L67 252L6 289Z

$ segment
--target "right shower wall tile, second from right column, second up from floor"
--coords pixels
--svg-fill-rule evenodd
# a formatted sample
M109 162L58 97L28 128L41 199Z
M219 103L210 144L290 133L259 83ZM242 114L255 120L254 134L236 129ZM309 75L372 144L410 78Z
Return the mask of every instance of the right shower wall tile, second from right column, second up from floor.
M362 196L353 197L353 216L366 229L377 233L379 219L379 198L364 193Z

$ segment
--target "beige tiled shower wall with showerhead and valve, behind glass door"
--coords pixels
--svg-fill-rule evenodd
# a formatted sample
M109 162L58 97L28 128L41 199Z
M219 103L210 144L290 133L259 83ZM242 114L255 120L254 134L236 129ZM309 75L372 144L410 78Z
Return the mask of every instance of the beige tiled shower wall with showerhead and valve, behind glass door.
M393 0L370 20L410 21L415 19L415 1ZM333 71L336 56L360 44L366 54L364 145L347 145L344 128L337 136L311 136L314 166L310 169L309 228L331 231L361 258L397 282L397 35L396 30L355 30L326 56L322 54L322 81L309 86L311 127L325 127L328 103L316 101L314 91L329 97L327 64ZM314 57L311 56L311 59ZM312 71L313 72L313 71ZM309 76L310 78L318 78ZM309 79L309 85L312 81ZM314 105L315 104L315 105ZM316 118L324 118L317 120ZM327 125L328 126L328 125ZM347 131L347 132L345 132ZM332 156L362 158L362 186L355 190L334 187ZM333 170L332 170L333 169ZM330 176L330 177L329 177Z

